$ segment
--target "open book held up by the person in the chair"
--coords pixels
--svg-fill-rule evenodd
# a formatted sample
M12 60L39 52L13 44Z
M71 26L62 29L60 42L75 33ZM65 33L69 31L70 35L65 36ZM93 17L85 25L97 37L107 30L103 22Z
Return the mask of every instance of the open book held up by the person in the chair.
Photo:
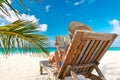
M69 44L69 36L56 36L56 41L59 43L61 48L65 48Z

